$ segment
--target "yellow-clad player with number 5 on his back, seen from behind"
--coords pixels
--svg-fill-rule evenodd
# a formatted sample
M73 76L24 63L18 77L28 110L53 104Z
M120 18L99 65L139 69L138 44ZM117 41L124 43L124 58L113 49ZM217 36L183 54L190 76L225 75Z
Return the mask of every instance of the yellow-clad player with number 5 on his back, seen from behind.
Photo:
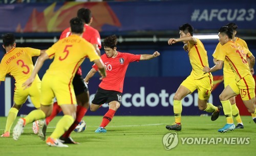
M81 37L83 33L83 20L75 17L70 20L71 32L67 38L58 40L41 55L36 62L31 77L23 84L29 87L34 80L36 73L40 70L46 59L53 58L41 84L41 109L33 110L25 118L20 118L13 129L13 139L18 140L23 127L34 120L44 119L51 115L53 98L56 97L64 116L58 121L56 128L46 143L49 146L68 147L62 144L58 138L69 129L76 119L76 97L72 84L74 75L84 58L88 57L99 67L101 79L106 76L105 68L93 45ZM42 129L41 129L42 130ZM39 129L39 136L45 140L45 136Z

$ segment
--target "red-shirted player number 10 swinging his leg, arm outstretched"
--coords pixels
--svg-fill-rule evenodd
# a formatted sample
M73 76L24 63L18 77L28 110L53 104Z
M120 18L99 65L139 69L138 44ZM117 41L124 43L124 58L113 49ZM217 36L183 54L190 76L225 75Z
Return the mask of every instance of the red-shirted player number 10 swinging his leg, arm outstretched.
M105 63L106 77L99 84L99 88L90 106L90 110L95 112L99 106L105 102L109 104L109 110L104 115L100 126L95 130L96 133L106 132L105 126L110 123L114 117L117 109L120 107L123 81L125 72L129 63L140 60L148 60L160 55L159 52L154 54L141 54L134 55L130 53L121 53L117 51L117 37L115 35L108 36L103 40L103 47L105 54L101 56L102 61ZM94 64L93 68L84 78L85 82L89 82L90 78L98 71L97 66Z

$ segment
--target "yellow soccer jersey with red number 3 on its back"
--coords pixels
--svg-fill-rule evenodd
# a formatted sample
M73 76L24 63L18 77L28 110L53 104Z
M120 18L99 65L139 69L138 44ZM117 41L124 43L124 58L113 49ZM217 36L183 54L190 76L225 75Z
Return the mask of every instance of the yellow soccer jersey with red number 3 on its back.
M6 74L13 76L15 83L25 82L34 70L32 56L39 56L40 50L33 48L13 48L1 61L0 81L5 81ZM36 76L36 80L40 81Z

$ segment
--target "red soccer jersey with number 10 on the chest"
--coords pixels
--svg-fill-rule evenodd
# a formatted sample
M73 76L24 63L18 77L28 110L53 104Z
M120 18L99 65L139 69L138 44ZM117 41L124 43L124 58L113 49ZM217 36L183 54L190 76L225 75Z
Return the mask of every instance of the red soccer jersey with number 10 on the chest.
M115 58L108 58L106 54L101 55L102 61L105 63L106 77L102 79L99 87L104 90L123 92L123 80L130 62L139 61L140 55L130 53L117 52ZM93 65L97 71L98 66Z

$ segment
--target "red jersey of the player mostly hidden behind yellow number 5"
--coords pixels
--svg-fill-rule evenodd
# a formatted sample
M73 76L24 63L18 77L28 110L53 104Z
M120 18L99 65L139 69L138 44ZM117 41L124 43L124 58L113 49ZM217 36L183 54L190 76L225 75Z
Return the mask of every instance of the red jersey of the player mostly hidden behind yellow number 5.
M87 41L89 41L92 44L98 44L98 47L100 49L101 48L101 41L100 41L100 35L99 35L98 30L96 30L93 27L88 26L88 25L84 25L84 28L86 28L86 31L82 34L82 38L86 39ZM71 30L70 30L70 27L69 27L61 33L59 39L68 37L70 35L71 35ZM82 75L81 66L79 66L76 74Z

